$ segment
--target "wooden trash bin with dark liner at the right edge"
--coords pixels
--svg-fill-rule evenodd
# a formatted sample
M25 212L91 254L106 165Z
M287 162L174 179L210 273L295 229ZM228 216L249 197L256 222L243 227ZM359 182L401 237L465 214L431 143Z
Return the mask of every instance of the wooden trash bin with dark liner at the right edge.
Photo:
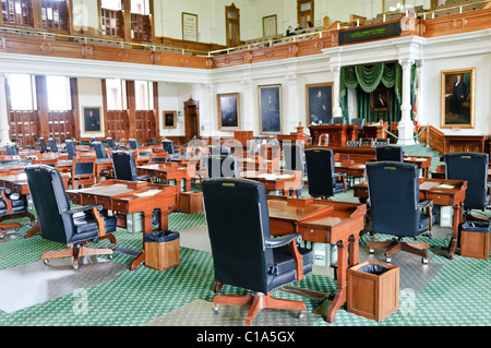
M489 260L489 223L466 220L460 225L460 256Z

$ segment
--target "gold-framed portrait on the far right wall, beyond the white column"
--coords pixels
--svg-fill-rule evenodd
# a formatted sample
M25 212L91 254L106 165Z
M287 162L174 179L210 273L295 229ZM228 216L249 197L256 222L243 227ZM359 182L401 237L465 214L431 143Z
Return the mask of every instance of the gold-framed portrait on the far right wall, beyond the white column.
M474 128L476 69L442 71L442 128Z

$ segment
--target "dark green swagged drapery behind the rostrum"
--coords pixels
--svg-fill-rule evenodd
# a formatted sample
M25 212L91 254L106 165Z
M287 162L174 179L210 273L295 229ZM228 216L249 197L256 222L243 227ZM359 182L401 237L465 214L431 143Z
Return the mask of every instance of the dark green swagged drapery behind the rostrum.
M416 65L411 67L411 91L410 100L414 103L415 96ZM388 111L371 111L370 94L380 84L390 92ZM347 89L356 91L358 118L363 118L366 122L376 122L379 120L394 122L400 120L400 103L403 96L403 69L399 63L375 63L371 67L356 65L355 68L344 67L339 76L339 101L343 116L349 122L348 94ZM412 108L411 108L411 118Z

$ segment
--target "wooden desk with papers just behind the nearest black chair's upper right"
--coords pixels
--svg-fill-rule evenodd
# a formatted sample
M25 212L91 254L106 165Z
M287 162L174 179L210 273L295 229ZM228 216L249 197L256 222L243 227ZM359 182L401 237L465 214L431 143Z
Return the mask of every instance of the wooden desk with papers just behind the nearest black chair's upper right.
M300 170L275 170L270 175L247 170L241 172L240 176L243 179L262 182L266 192L282 191L284 195L289 195L290 190L295 191L302 187L302 172Z

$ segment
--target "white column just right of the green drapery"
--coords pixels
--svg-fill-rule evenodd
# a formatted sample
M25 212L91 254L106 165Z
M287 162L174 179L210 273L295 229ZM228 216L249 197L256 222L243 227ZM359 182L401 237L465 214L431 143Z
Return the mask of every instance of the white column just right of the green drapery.
M402 117L398 125L398 141L400 145L415 144L415 124L411 120L411 65L409 59L399 61L403 67L403 103L400 105Z

